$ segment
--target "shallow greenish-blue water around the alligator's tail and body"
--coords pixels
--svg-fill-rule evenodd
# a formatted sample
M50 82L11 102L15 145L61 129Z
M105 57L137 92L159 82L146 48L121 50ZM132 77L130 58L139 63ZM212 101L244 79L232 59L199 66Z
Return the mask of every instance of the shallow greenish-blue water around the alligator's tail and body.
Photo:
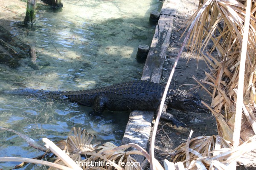
M35 46L36 67L20 59L16 69L0 65L0 88L82 90L140 79L143 64L136 62L137 47L150 45L154 26L150 11L162 5L157 0L68 0L60 12L38 4L35 31L12 23L11 33ZM38 69L34 69L38 68ZM0 127L17 130L43 144L67 137L73 126L86 128L102 142L120 144L128 112L91 113L92 108L69 101L35 96L1 95ZM41 152L28 147L12 132L0 131L0 156L36 157ZM17 162L0 163L6 169ZM35 168L35 167L34 167Z

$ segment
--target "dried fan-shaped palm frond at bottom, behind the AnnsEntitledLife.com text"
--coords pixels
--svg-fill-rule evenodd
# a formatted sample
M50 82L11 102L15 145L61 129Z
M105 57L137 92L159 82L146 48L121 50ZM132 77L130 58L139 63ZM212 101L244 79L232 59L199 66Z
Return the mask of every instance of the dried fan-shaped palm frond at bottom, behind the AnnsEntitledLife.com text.
M106 142L100 146L96 142L96 136L87 133L79 127L73 127L64 141L57 142L65 153L70 156L73 161L79 164L83 169L93 169L93 167L100 167L100 169L113 169L118 170L130 169L140 170L140 164L132 158L132 154L139 154L145 156L149 160L148 153L138 146L137 144L126 144L117 147L111 142ZM125 151L129 147L135 147L141 151ZM155 161L161 167L158 161ZM54 163L65 165L65 163L57 158ZM131 166L132 165L132 166ZM55 170L50 167L49 170Z

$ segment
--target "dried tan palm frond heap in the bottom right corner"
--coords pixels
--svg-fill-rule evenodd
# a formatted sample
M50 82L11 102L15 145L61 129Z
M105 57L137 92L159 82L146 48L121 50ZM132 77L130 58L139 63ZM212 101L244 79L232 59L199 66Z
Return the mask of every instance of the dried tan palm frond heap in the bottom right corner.
M246 155L256 148L256 136L239 147L231 148L221 136L199 136L181 144L172 153L173 162L165 160L165 167L178 169L226 170L233 161L246 162L253 157ZM187 164L189 163L189 164Z

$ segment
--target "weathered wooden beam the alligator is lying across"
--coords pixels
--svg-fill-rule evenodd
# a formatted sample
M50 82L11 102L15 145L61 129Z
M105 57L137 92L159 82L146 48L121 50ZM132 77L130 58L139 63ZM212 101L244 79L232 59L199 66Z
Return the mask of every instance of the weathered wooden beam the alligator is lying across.
M163 70L163 63L169 47L172 26L174 21L173 14L177 13L177 6L180 0L166 0L163 3L160 19L155 29L155 34L151 42L148 57L145 62L141 79L151 79L152 82L160 82ZM133 111L130 113L129 121L125 129L122 144L136 143L144 149L147 148L148 139L151 134L151 123L154 112ZM144 157L140 155L134 158L142 163Z

